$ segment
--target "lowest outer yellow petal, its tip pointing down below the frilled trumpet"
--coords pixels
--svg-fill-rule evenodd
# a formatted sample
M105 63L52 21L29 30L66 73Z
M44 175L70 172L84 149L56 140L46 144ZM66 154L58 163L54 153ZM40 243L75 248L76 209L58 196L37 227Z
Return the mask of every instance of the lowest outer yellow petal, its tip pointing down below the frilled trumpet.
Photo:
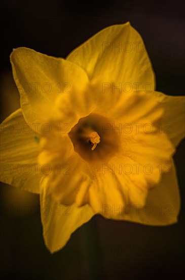
M41 184L41 218L45 244L51 253L65 246L71 234L89 221L94 212L85 205L77 207L57 203L48 190L47 178Z

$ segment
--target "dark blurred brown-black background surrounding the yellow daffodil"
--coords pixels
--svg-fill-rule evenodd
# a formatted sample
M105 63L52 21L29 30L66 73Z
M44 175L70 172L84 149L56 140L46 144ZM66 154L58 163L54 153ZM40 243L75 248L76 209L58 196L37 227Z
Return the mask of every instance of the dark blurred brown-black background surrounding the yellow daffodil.
M2 4L3 3L3 4ZM19 107L9 55L25 46L63 57L102 28L130 21L141 34L157 90L184 94L183 1L2 1L1 121ZM184 142L174 156L182 207L179 222L147 227L95 216L53 256L45 248L39 195L1 185L2 279L168 279L184 271ZM31 206L28 211L25 205ZM38 207L33 207L37 205ZM29 208L30 209L30 208Z

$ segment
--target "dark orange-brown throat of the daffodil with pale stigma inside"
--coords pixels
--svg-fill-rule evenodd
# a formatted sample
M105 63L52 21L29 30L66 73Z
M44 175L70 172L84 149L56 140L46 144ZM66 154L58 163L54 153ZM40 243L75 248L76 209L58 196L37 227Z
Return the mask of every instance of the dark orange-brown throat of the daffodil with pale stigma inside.
M101 115L90 114L72 127L68 136L75 151L83 159L106 162L118 151L118 134L113 133L112 129L104 129L110 123L110 120Z

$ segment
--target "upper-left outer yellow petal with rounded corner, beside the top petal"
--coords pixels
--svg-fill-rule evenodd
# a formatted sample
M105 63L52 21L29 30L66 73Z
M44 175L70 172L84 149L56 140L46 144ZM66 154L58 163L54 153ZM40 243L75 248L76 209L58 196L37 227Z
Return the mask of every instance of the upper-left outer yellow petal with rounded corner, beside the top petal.
M49 57L29 48L11 53L14 80L21 96L21 108L29 123L47 123L59 112L55 99L70 94L72 88L83 88L88 82L85 71L61 58Z

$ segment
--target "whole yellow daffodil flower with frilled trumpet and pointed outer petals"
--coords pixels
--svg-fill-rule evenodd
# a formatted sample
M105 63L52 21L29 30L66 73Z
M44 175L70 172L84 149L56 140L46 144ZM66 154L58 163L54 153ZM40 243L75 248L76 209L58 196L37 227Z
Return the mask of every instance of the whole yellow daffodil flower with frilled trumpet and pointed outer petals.
M11 53L21 108L1 125L1 180L40 193L53 253L93 215L177 222L172 156L184 136L184 98L155 91L140 35L113 25L66 59Z

